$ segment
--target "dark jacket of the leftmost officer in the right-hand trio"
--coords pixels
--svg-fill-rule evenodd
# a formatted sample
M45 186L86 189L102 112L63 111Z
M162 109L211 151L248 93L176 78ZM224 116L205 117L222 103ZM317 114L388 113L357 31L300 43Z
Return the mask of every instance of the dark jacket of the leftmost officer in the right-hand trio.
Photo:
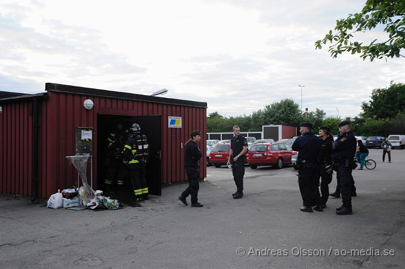
M320 140L311 131L304 132L294 141L293 150L298 151L297 161L300 166L318 166Z

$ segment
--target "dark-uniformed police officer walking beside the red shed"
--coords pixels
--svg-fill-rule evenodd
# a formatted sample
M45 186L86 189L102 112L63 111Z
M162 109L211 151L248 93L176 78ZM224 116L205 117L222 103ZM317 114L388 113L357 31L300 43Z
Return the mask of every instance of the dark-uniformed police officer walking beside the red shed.
M203 153L199 150L197 143L201 140L201 134L199 131L192 131L190 133L191 139L185 144L185 154L184 154L184 168L186 169L188 177L188 187L179 196L179 200L183 204L187 205L186 197L191 194L191 206L202 207L203 205L198 203L198 190L199 190L199 164L198 161L203 157Z

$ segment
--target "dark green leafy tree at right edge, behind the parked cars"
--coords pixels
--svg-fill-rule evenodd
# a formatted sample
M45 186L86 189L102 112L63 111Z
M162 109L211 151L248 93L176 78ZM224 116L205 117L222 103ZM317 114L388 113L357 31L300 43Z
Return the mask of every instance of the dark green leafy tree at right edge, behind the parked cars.
M405 84L393 83L388 88L373 89L371 100L361 104L362 116L373 119L395 117L405 111Z

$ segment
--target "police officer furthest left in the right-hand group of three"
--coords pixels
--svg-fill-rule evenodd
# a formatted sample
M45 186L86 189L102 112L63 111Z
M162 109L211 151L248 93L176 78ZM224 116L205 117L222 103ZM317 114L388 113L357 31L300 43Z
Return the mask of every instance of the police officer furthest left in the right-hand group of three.
M298 185L303 201L303 212L323 211L319 195L318 156L320 140L312 133L312 124L302 122L300 124L301 136L293 144L293 150L298 151Z

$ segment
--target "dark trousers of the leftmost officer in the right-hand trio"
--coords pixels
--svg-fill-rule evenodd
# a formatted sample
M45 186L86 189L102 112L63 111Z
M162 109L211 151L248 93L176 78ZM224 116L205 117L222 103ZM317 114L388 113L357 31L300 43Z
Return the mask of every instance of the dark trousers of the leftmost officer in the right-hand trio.
M298 186L300 187L304 206L321 204L319 195L319 174L316 167L300 167L298 170Z

